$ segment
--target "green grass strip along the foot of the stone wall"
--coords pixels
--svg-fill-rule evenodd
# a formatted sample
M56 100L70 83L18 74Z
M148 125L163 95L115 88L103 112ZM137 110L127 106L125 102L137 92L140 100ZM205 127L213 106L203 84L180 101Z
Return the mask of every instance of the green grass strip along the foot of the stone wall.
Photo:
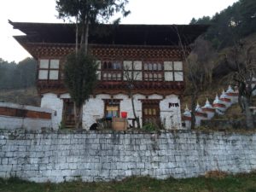
M110 183L30 183L17 178L0 179L1 192L104 192L104 191L166 191L166 192L256 192L256 173L225 177L197 177L156 180L149 177L130 177Z

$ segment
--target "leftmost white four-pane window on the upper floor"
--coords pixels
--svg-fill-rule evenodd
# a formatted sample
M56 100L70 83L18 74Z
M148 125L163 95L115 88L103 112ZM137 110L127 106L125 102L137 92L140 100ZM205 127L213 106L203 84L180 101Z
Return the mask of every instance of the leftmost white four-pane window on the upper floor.
M59 60L39 60L38 79L57 80L59 79Z

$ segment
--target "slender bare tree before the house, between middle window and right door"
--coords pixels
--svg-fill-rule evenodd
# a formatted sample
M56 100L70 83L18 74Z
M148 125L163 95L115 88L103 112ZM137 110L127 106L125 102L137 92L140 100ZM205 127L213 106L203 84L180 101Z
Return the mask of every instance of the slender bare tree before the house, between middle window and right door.
M130 66L126 65L124 67L124 78L126 80L126 90L128 92L128 95L131 97L132 113L133 113L134 119L136 120L137 128L140 128L141 127L140 119L137 117L137 113L135 111L134 95L133 95L133 92L136 88L137 78L140 75L140 73L133 71L133 69L135 68L135 63L133 64L134 64L133 67L132 65Z

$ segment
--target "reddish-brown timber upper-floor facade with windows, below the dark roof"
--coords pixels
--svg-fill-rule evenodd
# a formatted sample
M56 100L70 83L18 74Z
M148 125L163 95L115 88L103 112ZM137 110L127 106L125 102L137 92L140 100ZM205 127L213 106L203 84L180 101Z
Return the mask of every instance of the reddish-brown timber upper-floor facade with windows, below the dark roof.
M65 92L63 68L74 45L66 49L64 44L33 46L38 58L38 90ZM143 94L183 92L183 57L177 47L90 45L90 52L98 65L96 94L124 93L130 80L135 84L134 90Z

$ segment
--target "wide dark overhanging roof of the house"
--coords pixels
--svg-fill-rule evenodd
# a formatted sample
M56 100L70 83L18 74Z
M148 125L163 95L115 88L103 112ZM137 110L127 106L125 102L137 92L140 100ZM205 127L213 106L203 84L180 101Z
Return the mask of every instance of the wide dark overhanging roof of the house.
M64 23L9 23L26 34L30 43L75 43L75 25ZM206 25L107 25L90 26L89 44L177 45L192 43L207 31Z

